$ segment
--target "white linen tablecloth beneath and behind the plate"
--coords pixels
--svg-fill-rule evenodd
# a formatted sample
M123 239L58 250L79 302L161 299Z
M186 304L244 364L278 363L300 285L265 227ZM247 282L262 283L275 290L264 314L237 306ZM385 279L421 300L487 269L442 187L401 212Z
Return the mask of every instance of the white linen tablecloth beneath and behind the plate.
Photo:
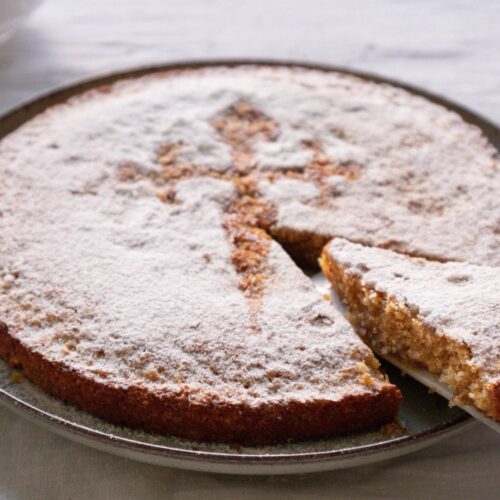
M0 112L99 72L260 57L380 73L499 123L499 26L498 0L46 0L0 46ZM0 498L493 499L500 491L499 445L500 437L478 424L426 450L350 470L216 476L94 451L0 408Z

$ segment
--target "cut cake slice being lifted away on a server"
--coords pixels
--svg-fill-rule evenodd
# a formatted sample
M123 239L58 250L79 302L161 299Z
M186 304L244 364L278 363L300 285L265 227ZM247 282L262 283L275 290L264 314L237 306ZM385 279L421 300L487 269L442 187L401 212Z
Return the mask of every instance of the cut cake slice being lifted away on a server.
M500 268L332 240L322 267L363 339L417 363L500 421Z

